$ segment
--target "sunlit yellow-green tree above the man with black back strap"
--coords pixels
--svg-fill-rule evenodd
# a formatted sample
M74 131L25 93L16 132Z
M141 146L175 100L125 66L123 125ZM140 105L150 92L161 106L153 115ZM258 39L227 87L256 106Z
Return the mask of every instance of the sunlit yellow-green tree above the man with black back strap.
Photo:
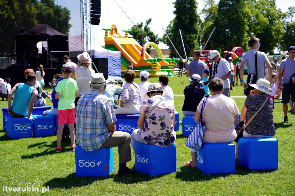
M276 9L275 0L258 0L251 2L253 18L249 26L248 36L260 39L260 51L273 53L273 49L281 43L284 30L283 20L286 14Z

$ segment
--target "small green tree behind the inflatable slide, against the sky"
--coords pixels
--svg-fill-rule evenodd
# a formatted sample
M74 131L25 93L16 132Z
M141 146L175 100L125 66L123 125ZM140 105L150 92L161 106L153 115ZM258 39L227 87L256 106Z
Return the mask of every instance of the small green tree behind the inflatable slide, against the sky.
M152 21L151 18L145 21L145 25L143 26L143 22L141 23L136 23L136 25L133 25L131 27L131 33L132 37L139 43L142 44L142 33L141 29L143 27L143 43L145 44L148 41L152 41L155 44L159 44L160 39L158 37L158 34L155 35L155 33L150 29L148 26L150 22ZM150 48L148 47L147 52L150 54Z

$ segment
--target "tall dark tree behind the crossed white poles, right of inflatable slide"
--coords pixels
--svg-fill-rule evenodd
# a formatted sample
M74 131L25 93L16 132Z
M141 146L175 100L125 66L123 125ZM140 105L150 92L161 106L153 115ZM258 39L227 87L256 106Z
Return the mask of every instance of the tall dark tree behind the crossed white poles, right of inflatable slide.
M191 50L195 47L198 24L201 23L201 19L196 11L197 2L196 0L176 0L173 4L175 8L173 14L175 17L166 27L165 31L178 52L184 57L183 46L179 35L179 29L181 30L186 54L189 56ZM171 49L170 57L174 57L174 48L165 34L163 35L162 41Z

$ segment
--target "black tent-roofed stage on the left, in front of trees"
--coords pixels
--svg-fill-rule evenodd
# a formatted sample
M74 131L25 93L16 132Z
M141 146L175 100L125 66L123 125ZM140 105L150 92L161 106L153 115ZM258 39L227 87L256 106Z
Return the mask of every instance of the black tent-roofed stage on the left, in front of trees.
M37 42L47 41L47 50L39 53ZM60 33L48 24L39 24L15 36L17 64L14 68L52 68L63 64L62 57L69 55L68 35Z

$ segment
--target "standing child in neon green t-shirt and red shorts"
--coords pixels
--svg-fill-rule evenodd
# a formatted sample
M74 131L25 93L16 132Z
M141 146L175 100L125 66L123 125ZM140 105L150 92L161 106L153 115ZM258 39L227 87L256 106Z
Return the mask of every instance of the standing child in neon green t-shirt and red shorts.
M75 151L75 99L79 97L79 88L76 80L70 78L72 67L64 64L61 68L64 79L58 82L55 88L55 99L58 100L58 129L56 133L57 147L55 152L61 152L61 138L63 127L68 123L71 136L71 151Z

